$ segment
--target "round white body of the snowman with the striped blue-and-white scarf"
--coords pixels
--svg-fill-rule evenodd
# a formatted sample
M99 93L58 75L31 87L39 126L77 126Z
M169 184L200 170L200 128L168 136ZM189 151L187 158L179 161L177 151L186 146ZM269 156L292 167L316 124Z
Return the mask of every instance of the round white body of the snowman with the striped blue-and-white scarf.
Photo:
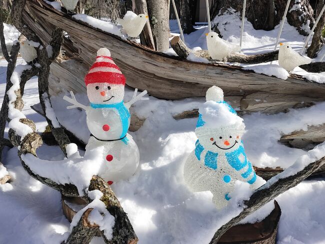
M235 181L249 182L253 187L256 174L244 154L239 154L240 163L237 163L236 166L233 164L231 166L225 153L215 154L215 152L206 149L200 152L196 145L196 149L190 153L185 162L184 180L194 192L211 191L214 204L217 208L222 208L230 199L229 193L233 191ZM206 162L205 159L209 155L216 156L215 164ZM231 155L229 156L231 157Z

